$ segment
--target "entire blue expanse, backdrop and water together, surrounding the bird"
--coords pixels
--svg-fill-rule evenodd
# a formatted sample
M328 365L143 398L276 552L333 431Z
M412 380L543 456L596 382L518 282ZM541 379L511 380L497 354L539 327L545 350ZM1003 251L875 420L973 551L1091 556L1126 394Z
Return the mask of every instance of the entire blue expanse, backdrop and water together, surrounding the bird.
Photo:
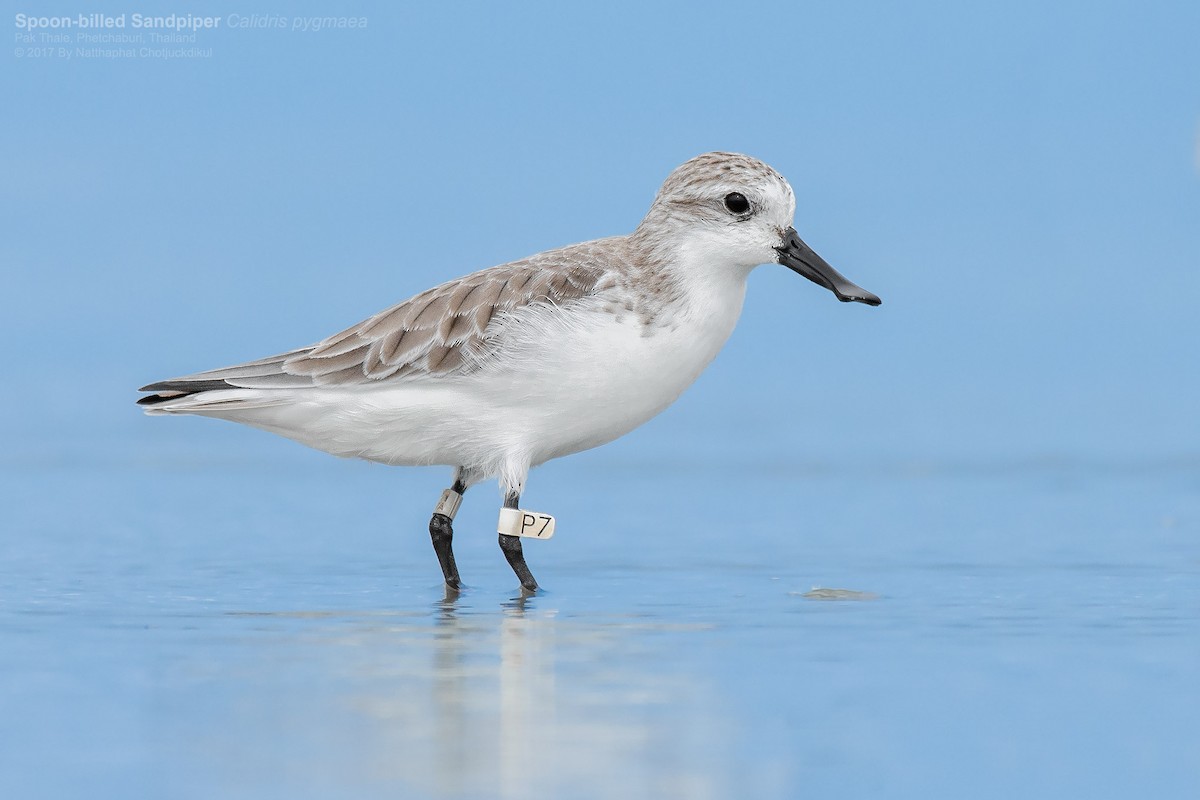
M18 5L0 23L91 10ZM714 766L718 752L763 766L758 796L1120 796L1154 781L1157 796L1184 796L1200 784L1200 5L97 10L368 25L223 22L198 35L203 59L0 53L0 775L18 789L56 774L50 795L116 796L138 775L149 783L134 787L184 796L175 778L204 775L198 796L265 796L278 784L247 777L253 765L217 778L210 750L163 750L181 720L220 738L230 718L247 747L278 750L262 769L308 764L331 792L349 786L350 754L289 738L289 714L329 721L302 697L341 697L331 687L346 682L342 656L308 644L378 633L362 609L410 612L413 648L433 658L412 675L437 682L445 654L431 642L444 637L430 630L445 620L431 610L440 589L421 529L448 471L146 420L133 390L626 233L672 168L715 149L788 178L800 235L883 306L761 267L733 338L672 409L533 474L529 497L559 516L556 543L530 558L550 601L514 618L498 608L510 576L490 536L476 537L478 564L460 555L482 587L458 609L474 621L449 628L467 661L491 663L499 642L503 678L516 619L533 626L522 640L556 643L558 666L539 674L560 698L594 692L616 720L610 738L564 739L611 765L606 777L568 764L530 786L620 796L613 776L634 770L646 790L674 781L720 796L742 783ZM461 531L488 529L488 492L468 498ZM653 543L611 537L629 529L622 509L661 525ZM748 509L774 533L721 535L714 521ZM572 513L577 539L563 533ZM402 527L414 535L398 543ZM772 570L778 591L756 583ZM883 600L811 610L830 606L800 593L829 582ZM299 616L258 626L238 616L247 609ZM334 621L306 627L310 612ZM661 628L613 621L629 619ZM148 642L132 633L143 626L168 633ZM362 646L380 662L412 655ZM276 667L239 670L259 658ZM635 674L581 666L605 658ZM661 675L631 666L647 658L662 658ZM827 661L846 668L822 672ZM677 687L643 685L660 676ZM689 681L700 688L678 688ZM808 681L830 691L802 698ZM380 696L413 691L384 684ZM630 686L658 705L620 693ZM246 697L262 691L269 712L248 723ZM462 702L487 729L490 706ZM587 720L598 708L535 710ZM682 711L698 708L698 720ZM140 722L125 724L130 714ZM14 722L29 718L40 733ZM361 720L329 724L378 741ZM625 734L649 744L596 744ZM732 754L727 735L742 742ZM356 796L499 786L486 758L478 784L413 777L431 763L458 762L414 757ZM287 796L325 786L296 777Z

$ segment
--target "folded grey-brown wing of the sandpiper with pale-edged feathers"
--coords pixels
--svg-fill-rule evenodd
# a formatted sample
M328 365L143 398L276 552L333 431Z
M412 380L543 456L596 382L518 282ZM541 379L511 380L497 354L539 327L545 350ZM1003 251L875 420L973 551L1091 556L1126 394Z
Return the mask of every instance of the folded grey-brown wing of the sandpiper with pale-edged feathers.
M462 374L500 344L508 312L568 306L614 283L611 247L584 242L493 266L410 297L323 342L143 386L145 404L215 389L344 386Z

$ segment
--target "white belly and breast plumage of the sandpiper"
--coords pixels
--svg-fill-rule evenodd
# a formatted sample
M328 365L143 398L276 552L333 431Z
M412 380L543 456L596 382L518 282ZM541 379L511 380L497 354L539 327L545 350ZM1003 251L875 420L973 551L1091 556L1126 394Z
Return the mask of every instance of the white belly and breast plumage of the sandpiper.
M514 318L486 368L354 398L323 392L286 435L389 464L520 471L612 441L670 405L728 338L740 300L725 294L650 326L599 303Z

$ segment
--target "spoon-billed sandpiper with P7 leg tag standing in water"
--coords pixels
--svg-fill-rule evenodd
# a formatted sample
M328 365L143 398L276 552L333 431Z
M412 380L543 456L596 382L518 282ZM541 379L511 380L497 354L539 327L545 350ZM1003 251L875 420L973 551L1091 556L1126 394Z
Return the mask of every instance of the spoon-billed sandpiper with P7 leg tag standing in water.
M138 403L335 456L452 468L428 527L452 591L455 513L470 486L496 479L500 549L522 593L536 593L521 539L554 521L520 507L529 470L671 405L732 333L751 270L780 264L844 302L881 303L800 239L794 212L791 185L764 162L702 154L670 173L630 234L473 272L310 347L149 384Z

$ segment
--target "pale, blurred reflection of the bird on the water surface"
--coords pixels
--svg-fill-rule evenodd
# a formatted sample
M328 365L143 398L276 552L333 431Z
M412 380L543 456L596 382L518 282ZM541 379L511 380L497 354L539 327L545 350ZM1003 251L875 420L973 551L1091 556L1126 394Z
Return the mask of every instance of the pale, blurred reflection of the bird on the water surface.
M494 596L485 603L469 590L448 593L428 609L424 620L312 618L302 637L274 642L287 650L276 657L295 662L299 649L314 669L311 691L280 698L290 703L289 717L311 715L330 742L301 762L354 776L356 796L733 790L724 756L730 721L716 692L655 658L655 648L680 636L677 627L560 618L542 594L497 604ZM252 716L269 726L272 715L281 716ZM302 751L306 742L296 742Z

